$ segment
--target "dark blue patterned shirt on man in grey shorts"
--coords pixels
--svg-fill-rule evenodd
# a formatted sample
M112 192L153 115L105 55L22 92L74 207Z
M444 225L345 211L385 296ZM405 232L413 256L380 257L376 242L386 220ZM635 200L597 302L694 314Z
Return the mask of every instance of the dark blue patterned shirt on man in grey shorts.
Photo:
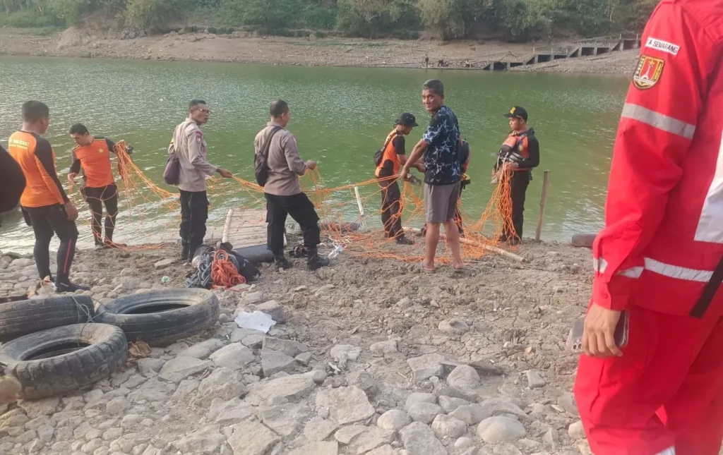
M459 122L447 106L432 116L422 139L429 146L424 152L424 183L451 185L461 180L459 162Z

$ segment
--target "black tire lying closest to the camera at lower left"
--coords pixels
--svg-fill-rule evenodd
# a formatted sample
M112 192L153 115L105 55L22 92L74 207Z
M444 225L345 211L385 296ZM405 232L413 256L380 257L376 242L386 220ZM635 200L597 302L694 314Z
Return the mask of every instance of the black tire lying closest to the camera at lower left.
M78 346L81 346L80 349ZM108 324L73 324L25 335L6 343L0 362L20 381L20 397L64 394L106 378L128 357L121 329Z

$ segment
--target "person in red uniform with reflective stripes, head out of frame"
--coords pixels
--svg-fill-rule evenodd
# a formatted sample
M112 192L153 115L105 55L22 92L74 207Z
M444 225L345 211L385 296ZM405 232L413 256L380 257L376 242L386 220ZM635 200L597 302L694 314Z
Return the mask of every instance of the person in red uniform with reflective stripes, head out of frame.
M719 454L722 70L723 1L662 0L643 32L593 244L575 394L596 455Z

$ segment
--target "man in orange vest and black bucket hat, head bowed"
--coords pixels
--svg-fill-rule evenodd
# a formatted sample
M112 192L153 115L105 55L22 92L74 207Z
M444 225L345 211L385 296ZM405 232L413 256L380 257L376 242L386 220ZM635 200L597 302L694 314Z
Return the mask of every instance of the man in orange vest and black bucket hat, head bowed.
M380 149L381 156L376 163L374 175L380 179L382 187L382 225L388 238L393 238L400 245L411 245L402 230L401 191L397 183L397 176L401 165L406 163L406 150L404 136L408 136L412 129L418 126L414 115L402 113L395 123L394 129L388 134L384 146ZM417 167L419 168L419 166Z

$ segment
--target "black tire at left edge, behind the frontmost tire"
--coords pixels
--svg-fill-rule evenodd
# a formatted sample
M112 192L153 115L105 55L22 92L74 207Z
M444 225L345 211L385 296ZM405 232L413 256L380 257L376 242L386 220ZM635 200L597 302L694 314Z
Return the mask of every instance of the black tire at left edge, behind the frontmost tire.
M93 299L87 295L0 303L0 342L54 327L84 324L93 316Z

